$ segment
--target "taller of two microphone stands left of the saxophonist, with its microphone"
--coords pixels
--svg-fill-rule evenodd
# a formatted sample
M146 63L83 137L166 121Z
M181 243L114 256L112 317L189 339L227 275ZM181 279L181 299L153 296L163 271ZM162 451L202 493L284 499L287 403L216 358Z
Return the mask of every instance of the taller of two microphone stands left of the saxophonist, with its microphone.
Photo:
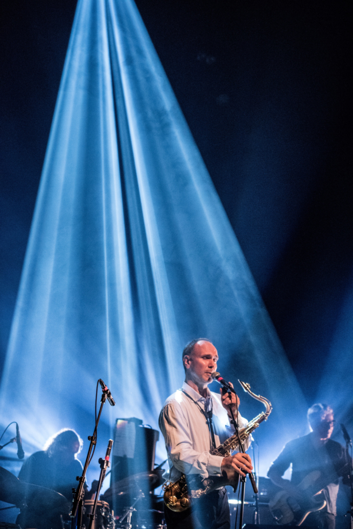
M109 404L111 406L115 406L115 402L114 402L114 399L112 397L112 394L110 394L110 391L107 388L107 386L104 384L103 380L101 380L101 379L98 380L98 382L97 382L97 392L98 392L98 384L100 384L103 393L102 393L102 396L101 396L101 399L100 399L100 408L99 408L98 416L96 415L96 425L95 425L95 429L94 429L93 435L89 435L88 436L88 441L90 441L90 443L89 443L89 448L88 448L87 457L86 457L86 461L85 461L85 466L83 467L82 475L81 476L77 476L77 478L76 478L77 481L79 482L77 489L76 490L72 489L72 494L74 496L73 496L73 500L72 500L72 509L71 509L71 514L70 514L70 516L71 516L71 529L75 529L76 527L77 527L77 529L86 529L86 526L82 524L83 496L85 495L85 490L83 490L83 485L85 485L85 481L86 481L86 472L87 472L88 465L89 465L90 460L91 460L92 449L97 444L97 428L98 428L100 414L102 413L104 403L108 399ZM97 399L97 395L96 395L96 399ZM97 400L96 400L96 403L97 403ZM96 408L96 413L97 413L97 408ZM77 519L76 519L76 515L77 515Z

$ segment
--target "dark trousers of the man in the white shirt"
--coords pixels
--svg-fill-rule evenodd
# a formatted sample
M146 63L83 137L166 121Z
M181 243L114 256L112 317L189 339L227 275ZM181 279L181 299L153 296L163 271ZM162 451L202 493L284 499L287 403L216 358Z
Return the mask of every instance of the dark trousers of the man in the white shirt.
M164 506L168 529L230 529L228 495L225 488L194 500L190 509L174 513Z

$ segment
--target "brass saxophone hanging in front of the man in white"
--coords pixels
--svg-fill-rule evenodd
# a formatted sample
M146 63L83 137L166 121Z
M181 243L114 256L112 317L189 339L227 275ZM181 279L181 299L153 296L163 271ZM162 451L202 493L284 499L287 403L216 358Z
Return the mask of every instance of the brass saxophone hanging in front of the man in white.
M263 422L267 421L268 415L272 412L271 402L265 397L260 395L255 395L250 390L250 385L247 382L241 382L238 380L240 386L251 395L254 399L262 402L266 408L265 412L261 412L257 417L252 419L246 426L239 428L239 437L242 442L244 442L248 436ZM231 453L238 448L239 439L238 435L235 433L229 439L227 439L223 444L212 450L212 455L220 455L222 457L229 457ZM233 487L234 491L238 486L239 474L234 470L231 475L227 475L224 472L223 476L208 477L201 479L199 475L190 475L185 476L183 474L178 481L174 483L165 482L163 485L164 490L164 503L165 505L173 510L175 513L181 513L183 510L191 507L192 501L194 499L200 498L205 494L208 494L212 490L230 485Z

